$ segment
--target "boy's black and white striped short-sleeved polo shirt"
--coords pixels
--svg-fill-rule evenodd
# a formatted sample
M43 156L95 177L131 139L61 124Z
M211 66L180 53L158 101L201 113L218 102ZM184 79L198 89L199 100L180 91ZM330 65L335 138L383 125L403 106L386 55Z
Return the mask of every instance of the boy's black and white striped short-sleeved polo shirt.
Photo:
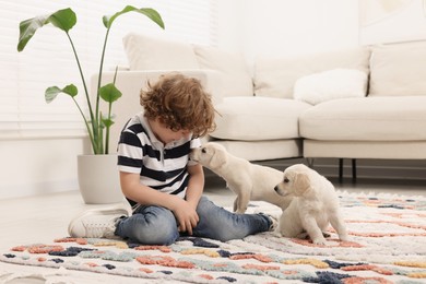
M163 144L153 133L143 111L131 118L118 143L120 171L140 174L140 182L153 189L185 198L189 174L189 152L200 139L182 138ZM135 203L135 202L133 202Z

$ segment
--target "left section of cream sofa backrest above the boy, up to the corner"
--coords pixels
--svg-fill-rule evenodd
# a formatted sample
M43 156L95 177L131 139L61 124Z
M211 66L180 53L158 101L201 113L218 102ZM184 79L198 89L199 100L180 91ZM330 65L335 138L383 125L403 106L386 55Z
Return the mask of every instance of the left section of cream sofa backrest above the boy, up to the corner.
M217 72L222 97L253 96L251 74L240 54L134 33L123 38L123 45L131 71L213 70Z

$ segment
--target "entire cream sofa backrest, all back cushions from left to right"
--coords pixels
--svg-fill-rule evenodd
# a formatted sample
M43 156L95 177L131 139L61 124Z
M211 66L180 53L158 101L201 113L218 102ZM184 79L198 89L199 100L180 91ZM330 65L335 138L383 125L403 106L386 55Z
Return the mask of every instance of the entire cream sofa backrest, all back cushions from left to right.
M213 70L221 97L294 98L296 82L335 69L369 74L369 96L426 95L426 42L359 47L291 57L259 57L250 74L241 54L166 36L131 33L123 38L130 70Z

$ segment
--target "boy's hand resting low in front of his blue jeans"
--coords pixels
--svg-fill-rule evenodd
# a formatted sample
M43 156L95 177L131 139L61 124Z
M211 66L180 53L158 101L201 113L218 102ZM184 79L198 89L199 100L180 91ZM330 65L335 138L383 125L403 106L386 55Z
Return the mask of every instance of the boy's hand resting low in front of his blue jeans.
M178 221L179 232L187 232L189 235L192 235L192 228L196 227L200 221L196 209L187 201L179 199L171 211Z

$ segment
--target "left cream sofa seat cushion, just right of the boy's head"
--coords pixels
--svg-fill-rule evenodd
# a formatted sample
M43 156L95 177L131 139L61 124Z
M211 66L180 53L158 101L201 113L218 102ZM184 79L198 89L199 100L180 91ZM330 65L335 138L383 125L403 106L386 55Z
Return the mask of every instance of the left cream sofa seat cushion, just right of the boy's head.
M272 97L225 97L215 108L216 139L259 141L299 137L298 117L311 105Z

